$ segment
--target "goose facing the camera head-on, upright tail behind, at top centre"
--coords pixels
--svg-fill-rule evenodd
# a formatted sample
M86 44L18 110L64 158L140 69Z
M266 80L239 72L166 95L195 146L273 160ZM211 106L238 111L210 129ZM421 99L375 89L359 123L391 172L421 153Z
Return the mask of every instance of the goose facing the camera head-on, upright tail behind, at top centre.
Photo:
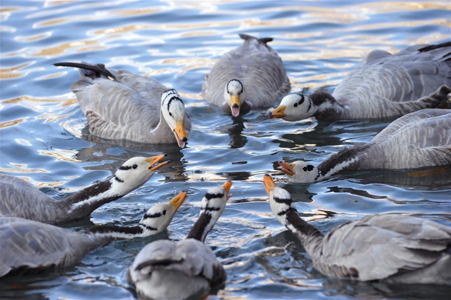
M240 34L242 46L225 53L202 85L202 97L233 116L265 107L290 91L290 80L272 38Z

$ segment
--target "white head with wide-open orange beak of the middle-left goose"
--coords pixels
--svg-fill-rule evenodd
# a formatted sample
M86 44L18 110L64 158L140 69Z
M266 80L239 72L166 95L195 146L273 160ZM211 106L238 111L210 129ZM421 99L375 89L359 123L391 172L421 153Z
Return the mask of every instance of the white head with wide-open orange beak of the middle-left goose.
M156 170L168 163L165 161L158 164L165 157L165 154L161 154L149 158L134 157L127 160L111 179L111 189L114 190L114 194L125 195L142 186Z

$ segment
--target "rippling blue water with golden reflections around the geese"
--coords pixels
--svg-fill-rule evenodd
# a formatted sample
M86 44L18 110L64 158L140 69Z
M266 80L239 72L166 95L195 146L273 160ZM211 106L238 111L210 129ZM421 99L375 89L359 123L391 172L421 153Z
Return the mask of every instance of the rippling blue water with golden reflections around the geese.
M277 161L319 164L367 142L391 120L286 122L263 110L232 119L200 97L203 77L242 41L237 33L273 37L292 90L332 92L372 49L449 39L449 2L22 2L1 3L1 170L62 198L111 174L127 158L166 152L171 163L143 187L68 224L136 224L154 203L188 190L168 232L116 241L77 265L3 280L6 298L132 298L125 269L156 238L182 239L209 187L234 181L233 197L207 237L227 269L219 298L445 298L448 287L353 283L312 267L299 241L271 215L262 176L273 174L297 208L323 232L368 214L398 212L450 219L449 170L429 178L354 172L314 184L286 184ZM104 63L153 76L176 88L193 130L187 148L131 147L86 130L70 85L78 72L61 61ZM380 259L383 259L381 257Z

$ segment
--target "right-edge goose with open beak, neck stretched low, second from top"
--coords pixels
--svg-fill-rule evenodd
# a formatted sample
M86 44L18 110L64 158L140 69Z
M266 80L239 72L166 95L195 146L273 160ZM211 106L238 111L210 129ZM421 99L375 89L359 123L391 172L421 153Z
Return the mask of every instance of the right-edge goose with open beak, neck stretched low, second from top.
M293 183L313 182L349 170L395 170L451 166L451 109L422 109L406 114L370 142L344 148L318 167L279 162Z

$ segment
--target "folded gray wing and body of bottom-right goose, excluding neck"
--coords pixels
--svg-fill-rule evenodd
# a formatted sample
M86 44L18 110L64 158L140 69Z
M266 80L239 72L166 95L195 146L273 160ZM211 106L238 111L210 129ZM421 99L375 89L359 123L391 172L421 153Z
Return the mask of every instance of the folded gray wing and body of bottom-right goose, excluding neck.
M450 245L448 226L399 214L373 215L330 231L314 264L336 277L385 279L431 267L443 255L449 260Z

